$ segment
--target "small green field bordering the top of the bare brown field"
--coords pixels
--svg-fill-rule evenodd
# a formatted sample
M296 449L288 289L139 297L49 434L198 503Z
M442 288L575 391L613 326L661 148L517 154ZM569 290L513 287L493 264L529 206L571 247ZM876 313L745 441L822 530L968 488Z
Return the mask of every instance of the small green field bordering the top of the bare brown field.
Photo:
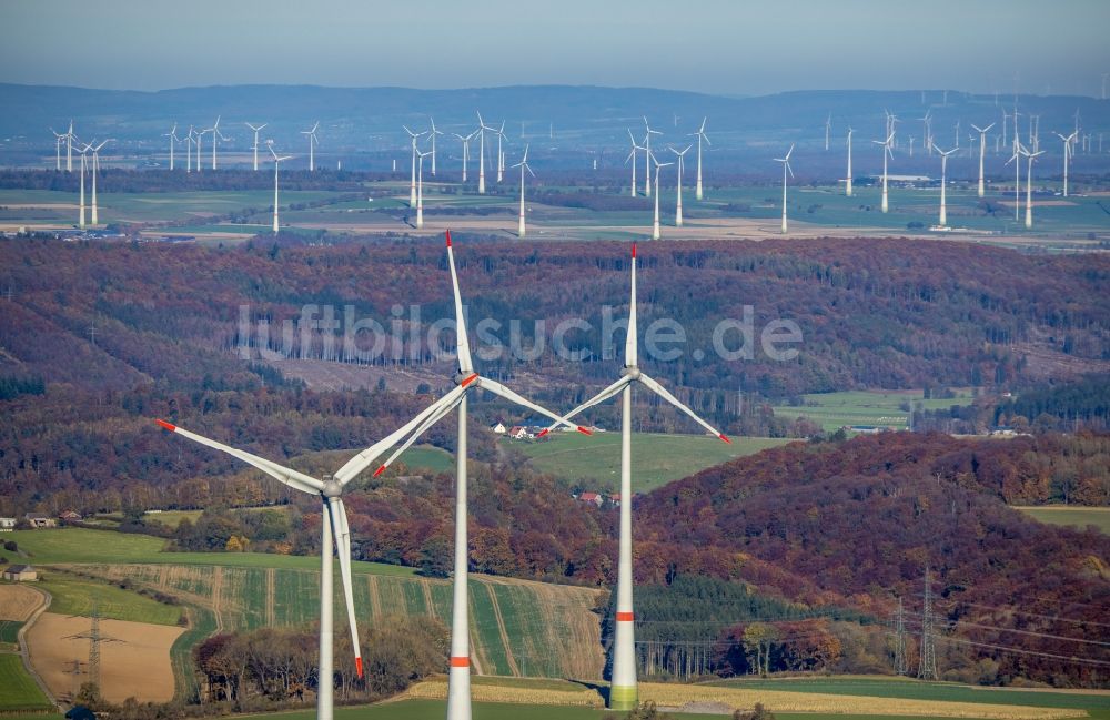
M132 622L176 625L182 608L164 605L113 585L73 577L60 570L43 574L38 587L49 592L50 611L58 615L92 615L95 598L100 617Z

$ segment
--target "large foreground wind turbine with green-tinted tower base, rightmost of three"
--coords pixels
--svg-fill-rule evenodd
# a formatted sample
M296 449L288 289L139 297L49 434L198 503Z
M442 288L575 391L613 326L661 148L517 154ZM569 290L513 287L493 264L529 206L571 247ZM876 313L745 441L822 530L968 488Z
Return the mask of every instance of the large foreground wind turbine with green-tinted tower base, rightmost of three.
M632 578L632 386L639 383L664 400L692 417L707 432L725 443L731 443L723 433L698 417L694 410L683 405L663 385L639 369L636 328L636 244L632 246L632 291L628 303L628 332L625 336L625 366L620 378L571 410L572 418L583 410L620 394L620 540L617 560L617 615L613 638L613 672L609 686L609 708L629 710L637 703L636 688L636 630L633 613ZM555 426L544 429L545 435Z

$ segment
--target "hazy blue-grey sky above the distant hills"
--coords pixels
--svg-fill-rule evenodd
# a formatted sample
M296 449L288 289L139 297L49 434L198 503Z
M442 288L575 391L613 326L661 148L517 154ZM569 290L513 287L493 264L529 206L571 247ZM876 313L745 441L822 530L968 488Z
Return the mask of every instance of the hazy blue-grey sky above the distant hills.
M0 0L0 81L1098 94L1110 0Z

